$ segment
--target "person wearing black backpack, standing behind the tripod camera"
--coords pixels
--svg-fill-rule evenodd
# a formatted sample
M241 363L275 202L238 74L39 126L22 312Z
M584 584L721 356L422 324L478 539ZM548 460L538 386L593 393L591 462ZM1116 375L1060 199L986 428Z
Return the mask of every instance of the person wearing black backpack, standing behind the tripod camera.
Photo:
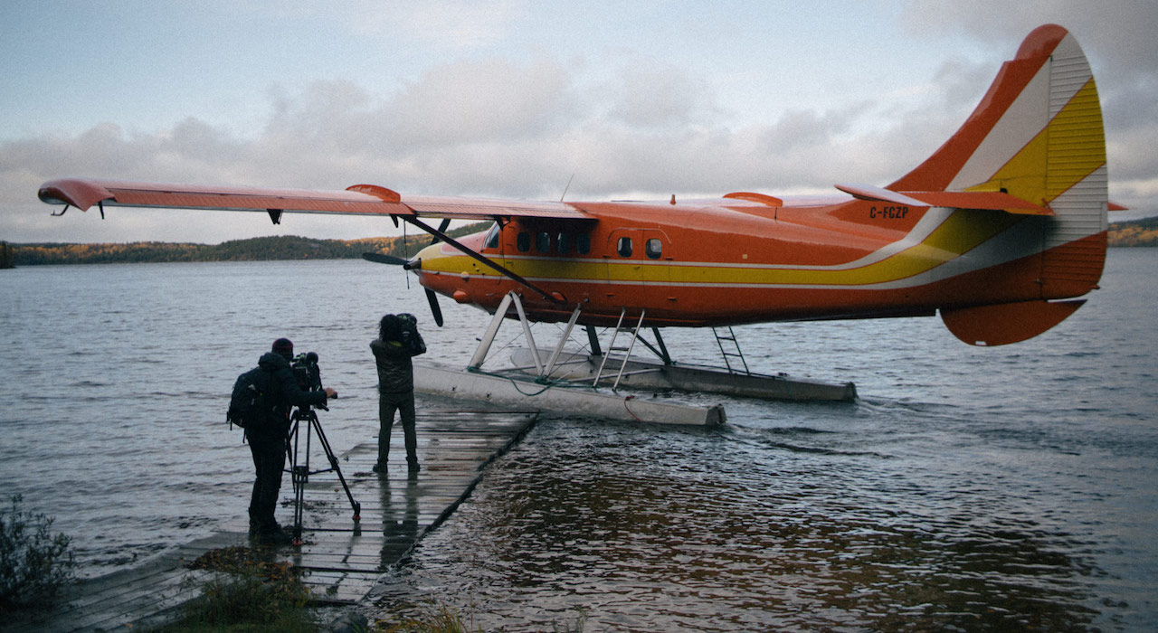
M338 397L338 392L329 387L322 391L308 391L300 387L290 366L291 359L293 343L286 338L273 341L273 348L262 355L257 368L237 378L229 405L229 420L245 428L256 470L249 500L249 536L266 543L291 542L290 535L281 531L273 517L285 470L290 408L305 405L324 407L328 398ZM242 398L239 392L248 392L249 396Z

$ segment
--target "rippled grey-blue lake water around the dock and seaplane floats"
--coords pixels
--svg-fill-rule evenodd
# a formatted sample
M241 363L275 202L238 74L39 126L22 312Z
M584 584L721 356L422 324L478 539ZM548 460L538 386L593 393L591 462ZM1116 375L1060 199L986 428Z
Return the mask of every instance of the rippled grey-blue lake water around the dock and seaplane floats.
M688 396L725 406L719 429L545 418L375 609L488 631L1158 630L1158 250L1112 250L1101 286L1007 347L937 318L736 329L754 370L860 400ZM0 271L0 490L56 517L85 575L207 536L248 505L239 373L280 336L318 352L344 451L376 433L383 312L469 359L486 317L441 303L435 329L413 280L357 260ZM716 362L709 331L665 339Z

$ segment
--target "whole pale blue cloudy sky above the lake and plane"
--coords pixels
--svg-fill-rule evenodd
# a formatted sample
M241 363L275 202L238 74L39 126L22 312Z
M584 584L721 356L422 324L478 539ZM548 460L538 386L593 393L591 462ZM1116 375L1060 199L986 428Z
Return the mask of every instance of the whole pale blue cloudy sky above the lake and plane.
M1035 27L1090 58L1111 198L1158 214L1158 2L0 3L0 240L397 235L388 219L110 208L67 176L557 200L885 185Z

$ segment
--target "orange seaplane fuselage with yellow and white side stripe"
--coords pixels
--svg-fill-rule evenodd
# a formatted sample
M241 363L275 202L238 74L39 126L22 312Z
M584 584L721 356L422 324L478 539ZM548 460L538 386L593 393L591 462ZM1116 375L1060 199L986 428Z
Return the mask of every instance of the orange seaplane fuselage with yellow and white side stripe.
M857 199L776 203L573 203L598 220L562 229L514 220L460 240L548 296L445 243L412 266L425 287L491 312L516 292L532 321L566 321L579 304L579 324L614 325L625 308L628 316L646 310L645 325L719 326L988 304L1033 310L1090 292L1105 257L1099 233L1068 246L1082 257L1049 277L1043 266L1064 253L985 246L1017 226L1040 233L1040 216Z

